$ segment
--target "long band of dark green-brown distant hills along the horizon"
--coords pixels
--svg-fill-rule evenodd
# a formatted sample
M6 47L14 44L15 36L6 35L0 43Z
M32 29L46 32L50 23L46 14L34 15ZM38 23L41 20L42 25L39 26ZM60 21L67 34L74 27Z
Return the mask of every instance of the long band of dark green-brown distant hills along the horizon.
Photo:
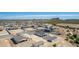
M73 23L79 24L79 19L60 19L60 18L52 18L52 19L1 19L0 21L43 21L48 23Z

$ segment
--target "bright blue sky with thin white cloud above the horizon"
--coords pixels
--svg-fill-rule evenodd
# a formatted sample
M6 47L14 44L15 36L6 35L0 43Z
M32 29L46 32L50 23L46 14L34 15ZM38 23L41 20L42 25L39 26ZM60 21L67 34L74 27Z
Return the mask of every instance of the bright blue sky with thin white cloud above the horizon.
M0 19L79 19L79 12L0 12Z

